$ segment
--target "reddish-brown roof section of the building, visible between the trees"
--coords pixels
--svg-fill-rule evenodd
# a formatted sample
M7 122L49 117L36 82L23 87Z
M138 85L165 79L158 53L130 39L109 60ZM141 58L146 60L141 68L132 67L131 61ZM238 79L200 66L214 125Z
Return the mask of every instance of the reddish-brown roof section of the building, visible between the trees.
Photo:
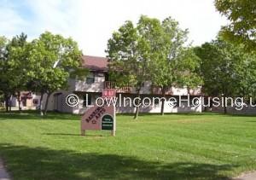
M82 56L82 66L91 71L108 71L108 58L91 55Z

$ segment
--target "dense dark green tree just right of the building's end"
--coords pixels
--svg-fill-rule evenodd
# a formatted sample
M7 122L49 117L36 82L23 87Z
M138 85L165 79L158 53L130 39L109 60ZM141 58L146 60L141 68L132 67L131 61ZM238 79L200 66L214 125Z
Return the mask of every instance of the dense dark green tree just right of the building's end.
M241 84L241 70L244 69L245 56L239 47L221 38L195 48L201 58L203 91L207 96L236 96ZM224 103L224 113L226 113Z

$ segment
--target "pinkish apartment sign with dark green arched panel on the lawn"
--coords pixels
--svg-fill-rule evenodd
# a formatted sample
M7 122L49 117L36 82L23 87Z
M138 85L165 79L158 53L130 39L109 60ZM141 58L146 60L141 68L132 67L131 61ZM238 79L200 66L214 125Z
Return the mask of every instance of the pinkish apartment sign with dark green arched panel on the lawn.
M115 90L103 90L102 97L104 102L108 98L115 97ZM110 106L108 106L110 105ZM111 135L115 136L115 107L113 104L104 103L102 107L90 107L81 119L81 135L85 135L86 130L102 130L111 131Z

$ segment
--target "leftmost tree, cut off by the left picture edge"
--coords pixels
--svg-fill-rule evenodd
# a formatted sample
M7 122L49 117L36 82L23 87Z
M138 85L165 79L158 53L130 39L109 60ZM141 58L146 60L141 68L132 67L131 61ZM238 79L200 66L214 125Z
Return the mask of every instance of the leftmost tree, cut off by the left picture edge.
M7 41L6 38L1 40L1 87L3 91L6 111L10 110L10 96L18 95L20 107L20 90L25 89L26 73L29 71L29 63L25 56L26 52L26 35L21 33L19 36Z

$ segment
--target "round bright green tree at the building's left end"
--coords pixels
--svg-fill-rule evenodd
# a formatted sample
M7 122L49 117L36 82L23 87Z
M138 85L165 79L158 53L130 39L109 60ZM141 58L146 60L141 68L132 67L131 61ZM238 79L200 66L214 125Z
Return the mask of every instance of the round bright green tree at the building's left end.
M81 67L81 51L72 38L63 38L44 32L32 41L33 50L29 59L34 66L30 74L30 88L41 93L40 112L46 114L49 96L55 90L67 88L67 79L75 73L87 72ZM44 111L42 99L46 95Z

